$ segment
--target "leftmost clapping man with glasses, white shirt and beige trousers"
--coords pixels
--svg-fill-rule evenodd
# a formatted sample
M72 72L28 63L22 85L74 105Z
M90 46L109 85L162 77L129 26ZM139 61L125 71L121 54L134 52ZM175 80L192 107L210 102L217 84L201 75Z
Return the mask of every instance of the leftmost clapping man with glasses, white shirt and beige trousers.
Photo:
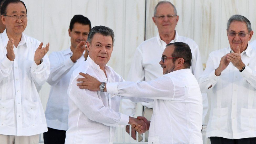
M0 141L38 144L47 131L38 91L50 74L46 55L49 43L26 36L24 2L3 3L1 19L6 30L0 36Z

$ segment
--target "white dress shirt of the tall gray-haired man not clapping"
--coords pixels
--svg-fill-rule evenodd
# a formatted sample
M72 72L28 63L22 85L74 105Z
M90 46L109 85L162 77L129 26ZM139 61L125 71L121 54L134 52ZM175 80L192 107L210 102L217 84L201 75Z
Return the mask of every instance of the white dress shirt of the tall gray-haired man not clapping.
M189 45L192 53L191 73L198 79L203 72L201 56L199 47L196 42L190 38L179 36L178 32L175 31L173 42L185 42ZM151 81L153 79L163 76L163 70L159 64L163 51L166 47L166 42L161 40L159 33L156 37L148 39L140 44L134 54L131 68L127 77L127 81ZM208 100L206 94L203 95L204 99L204 115L208 110ZM142 105L153 108L153 103L142 103ZM136 105L129 99L122 100L122 111L127 115L135 114Z

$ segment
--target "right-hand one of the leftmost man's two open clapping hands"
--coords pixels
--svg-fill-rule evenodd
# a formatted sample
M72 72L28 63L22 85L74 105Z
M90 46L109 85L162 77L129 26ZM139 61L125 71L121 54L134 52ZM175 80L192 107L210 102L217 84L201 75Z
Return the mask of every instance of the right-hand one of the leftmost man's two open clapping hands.
M34 56L34 61L36 63L36 65L40 65L41 63L41 59L47 54L47 52L49 51L49 42L45 47L42 47L43 43L41 42L40 45L38 46L38 48L35 51L35 56Z

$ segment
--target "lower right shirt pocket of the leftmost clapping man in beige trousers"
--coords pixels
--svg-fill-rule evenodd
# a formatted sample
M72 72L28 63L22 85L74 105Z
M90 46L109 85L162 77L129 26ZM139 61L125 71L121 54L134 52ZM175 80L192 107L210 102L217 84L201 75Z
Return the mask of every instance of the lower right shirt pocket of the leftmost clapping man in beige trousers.
M42 123L38 102L23 100L23 120L27 126Z

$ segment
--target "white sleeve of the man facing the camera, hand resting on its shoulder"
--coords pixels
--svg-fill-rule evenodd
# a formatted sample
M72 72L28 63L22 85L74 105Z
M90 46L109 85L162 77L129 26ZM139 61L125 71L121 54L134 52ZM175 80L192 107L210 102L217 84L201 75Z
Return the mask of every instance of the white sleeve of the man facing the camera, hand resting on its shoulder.
M87 89L80 89L76 84L77 78L83 78L78 75L71 82L68 95L76 106L87 116L88 119L100 122L108 126L127 125L129 116L115 112L113 109L106 108L98 93Z

